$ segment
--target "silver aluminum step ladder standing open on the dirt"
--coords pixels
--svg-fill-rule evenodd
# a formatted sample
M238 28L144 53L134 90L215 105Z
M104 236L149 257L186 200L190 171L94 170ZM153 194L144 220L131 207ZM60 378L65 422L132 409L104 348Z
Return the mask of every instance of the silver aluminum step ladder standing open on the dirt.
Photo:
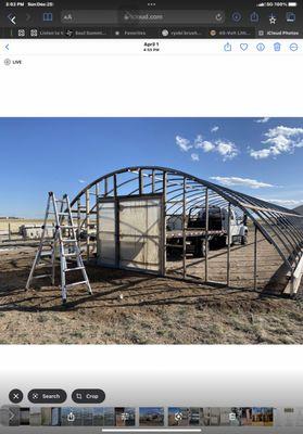
M52 224L50 219L52 218ZM54 225L53 225L54 220ZM53 237L48 237L48 231L53 230ZM61 275L61 294L62 303L67 301L67 290L74 286L86 285L88 293L92 294L88 276L81 257L80 247L77 240L77 227L74 226L70 199L67 194L60 200L55 199L53 192L49 193L45 221L40 244L26 283L26 290L29 290L33 280L50 278L54 285L56 259L60 260ZM45 261L47 259L47 261ZM68 260L74 260L77 266L68 267ZM50 267L48 275L36 275L39 268ZM74 283L66 283L66 273L72 275L80 271L83 280Z

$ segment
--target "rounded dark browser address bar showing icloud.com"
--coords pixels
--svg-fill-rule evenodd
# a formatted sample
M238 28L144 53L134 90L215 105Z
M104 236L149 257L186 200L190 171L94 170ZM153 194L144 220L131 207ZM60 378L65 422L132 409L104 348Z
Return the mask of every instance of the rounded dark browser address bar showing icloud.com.
M141 10L71 10L62 11L63 24L180 24L203 25L223 24L224 11L209 10L167 10L167 11L141 11Z

